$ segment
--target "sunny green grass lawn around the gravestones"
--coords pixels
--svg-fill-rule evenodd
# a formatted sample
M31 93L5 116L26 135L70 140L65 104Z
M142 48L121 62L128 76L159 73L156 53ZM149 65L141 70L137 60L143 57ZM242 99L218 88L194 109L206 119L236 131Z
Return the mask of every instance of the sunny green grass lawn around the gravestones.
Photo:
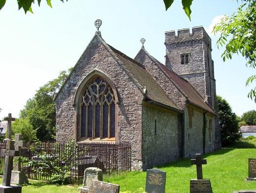
M232 146L205 154L202 157L207 159L207 165L203 165L203 177L210 179L212 190L215 193L256 189L256 181L245 181L248 177L248 158L256 158L256 140L239 141ZM196 166L191 166L189 159L183 159L159 168L167 173L166 192L189 192L189 180L197 177ZM140 193L144 191L145 180L145 172L130 172L104 181L119 184L121 192ZM2 178L0 183L2 183ZM30 183L31 185L23 186L23 192L79 192L77 190L79 186L56 186L32 180Z

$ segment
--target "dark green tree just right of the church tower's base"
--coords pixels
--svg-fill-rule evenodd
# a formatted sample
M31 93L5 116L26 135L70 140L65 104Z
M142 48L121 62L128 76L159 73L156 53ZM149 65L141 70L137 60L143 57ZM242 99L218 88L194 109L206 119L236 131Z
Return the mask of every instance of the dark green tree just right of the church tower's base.
M219 121L221 126L221 142L222 144L232 143L241 138L239 132L239 119L228 102L221 96L217 96L219 106Z

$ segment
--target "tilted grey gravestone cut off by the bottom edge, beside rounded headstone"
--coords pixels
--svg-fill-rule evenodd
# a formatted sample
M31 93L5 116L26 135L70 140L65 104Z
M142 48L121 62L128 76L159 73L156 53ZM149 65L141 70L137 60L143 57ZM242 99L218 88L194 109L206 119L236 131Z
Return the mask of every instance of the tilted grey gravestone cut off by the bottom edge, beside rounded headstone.
M119 193L120 186L98 180L93 180L90 193Z

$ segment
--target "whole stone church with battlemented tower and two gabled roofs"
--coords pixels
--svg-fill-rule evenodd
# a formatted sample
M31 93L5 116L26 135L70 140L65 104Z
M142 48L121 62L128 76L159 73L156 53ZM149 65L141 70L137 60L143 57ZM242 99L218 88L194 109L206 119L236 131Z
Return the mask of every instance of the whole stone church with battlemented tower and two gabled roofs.
M132 170L221 147L211 39L203 27L165 32L165 64L130 58L97 31L55 96L56 139L131 142Z

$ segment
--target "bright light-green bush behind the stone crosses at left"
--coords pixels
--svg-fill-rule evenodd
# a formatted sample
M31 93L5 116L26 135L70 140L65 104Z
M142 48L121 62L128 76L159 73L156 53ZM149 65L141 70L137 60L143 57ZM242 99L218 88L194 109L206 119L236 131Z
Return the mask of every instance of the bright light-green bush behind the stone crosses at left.
M20 133L26 141L31 141L36 139L36 130L33 129L33 126L29 123L28 118L18 118L12 124L12 132L14 134Z

